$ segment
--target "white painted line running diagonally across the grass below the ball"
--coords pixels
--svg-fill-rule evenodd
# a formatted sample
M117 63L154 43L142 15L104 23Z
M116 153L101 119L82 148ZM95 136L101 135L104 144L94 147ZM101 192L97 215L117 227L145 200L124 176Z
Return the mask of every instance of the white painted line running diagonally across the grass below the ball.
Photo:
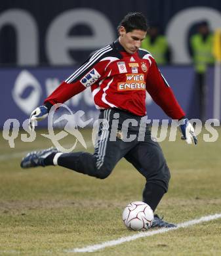
M208 215L205 217L201 217L200 219L193 219L192 221L186 221L185 223L180 223L176 226L176 228L161 228L153 231L146 231L146 232L139 232L138 234L134 234L133 236L125 236L123 238L119 238L117 240L111 240L104 242L102 244L94 244L89 245L87 247L83 248L75 248L75 249L68 249L65 252L66 253L89 253L92 251L98 251L99 249L104 249L105 247L110 247L114 245L123 244L125 242L130 242L132 240L136 240L138 238L144 238L147 236L154 236L155 234L162 234L168 231L176 230L178 228L186 228L187 226L195 225L198 223L202 223L205 221L212 221L214 219L221 218L221 213L215 214L215 215Z

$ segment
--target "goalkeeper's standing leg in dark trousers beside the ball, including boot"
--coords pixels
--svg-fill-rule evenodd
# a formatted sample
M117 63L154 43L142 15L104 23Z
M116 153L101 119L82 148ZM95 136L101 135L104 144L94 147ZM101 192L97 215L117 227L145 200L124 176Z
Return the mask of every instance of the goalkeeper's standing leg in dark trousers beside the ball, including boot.
M163 195L167 192L171 177L163 152L157 142L148 135L144 142L139 142L136 147L127 153L125 158L146 177L143 191L143 202L148 203L155 211ZM154 215L152 226L174 227Z

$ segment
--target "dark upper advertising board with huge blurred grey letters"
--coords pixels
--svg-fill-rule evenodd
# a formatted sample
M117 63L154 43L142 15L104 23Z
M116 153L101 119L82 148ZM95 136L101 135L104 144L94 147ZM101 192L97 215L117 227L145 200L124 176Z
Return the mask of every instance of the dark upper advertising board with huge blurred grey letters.
M220 0L7 0L0 3L0 63L79 63L115 39L119 21L130 11L142 11L161 25L174 64L190 64L188 37L197 22L221 27Z

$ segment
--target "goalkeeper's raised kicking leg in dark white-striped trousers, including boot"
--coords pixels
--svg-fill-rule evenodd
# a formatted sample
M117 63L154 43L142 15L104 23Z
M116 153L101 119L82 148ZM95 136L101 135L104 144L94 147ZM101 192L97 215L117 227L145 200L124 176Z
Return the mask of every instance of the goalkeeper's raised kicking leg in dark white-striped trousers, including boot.
M131 144L125 144L116 138L110 140L111 120L114 112L104 110L100 114L102 123L98 131L98 140L94 154L88 152L60 153L56 150L43 150L32 152L22 160L21 167L37 167L47 165L60 165L79 173L87 174L99 179L110 175L117 161L129 151Z

